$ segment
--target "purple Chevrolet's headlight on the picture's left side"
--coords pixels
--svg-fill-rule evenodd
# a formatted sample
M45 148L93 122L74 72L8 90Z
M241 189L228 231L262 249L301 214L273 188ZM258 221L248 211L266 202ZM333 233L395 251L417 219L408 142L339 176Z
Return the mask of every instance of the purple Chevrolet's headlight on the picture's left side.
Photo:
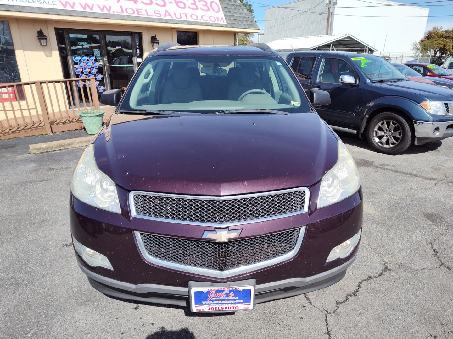
M88 205L121 213L115 183L97 168L93 144L85 149L77 163L71 191L77 199Z

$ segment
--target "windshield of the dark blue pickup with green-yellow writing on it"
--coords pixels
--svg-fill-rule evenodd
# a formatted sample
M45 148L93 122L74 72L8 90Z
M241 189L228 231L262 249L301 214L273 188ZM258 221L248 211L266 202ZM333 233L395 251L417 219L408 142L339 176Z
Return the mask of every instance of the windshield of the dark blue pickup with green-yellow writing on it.
M380 56L367 55L351 57L365 75L373 82L380 80L407 80L398 69L389 61L382 59Z

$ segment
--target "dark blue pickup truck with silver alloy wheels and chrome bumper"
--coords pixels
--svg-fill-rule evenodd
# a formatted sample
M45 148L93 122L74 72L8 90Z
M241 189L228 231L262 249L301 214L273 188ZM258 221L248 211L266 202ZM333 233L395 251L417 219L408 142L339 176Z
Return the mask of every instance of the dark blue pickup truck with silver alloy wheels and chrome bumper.
M322 89L316 108L334 129L367 138L381 153L453 136L453 90L410 81L390 62L360 52L294 52L286 61L304 90Z

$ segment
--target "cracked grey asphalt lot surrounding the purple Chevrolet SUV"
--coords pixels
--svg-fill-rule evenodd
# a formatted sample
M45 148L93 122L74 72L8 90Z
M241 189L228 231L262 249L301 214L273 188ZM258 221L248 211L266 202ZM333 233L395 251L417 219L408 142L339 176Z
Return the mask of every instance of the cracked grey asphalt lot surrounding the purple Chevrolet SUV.
M364 194L345 278L253 311L194 315L106 297L78 268L68 198L83 148L27 152L85 135L0 141L0 338L453 339L453 138L391 156L341 134Z

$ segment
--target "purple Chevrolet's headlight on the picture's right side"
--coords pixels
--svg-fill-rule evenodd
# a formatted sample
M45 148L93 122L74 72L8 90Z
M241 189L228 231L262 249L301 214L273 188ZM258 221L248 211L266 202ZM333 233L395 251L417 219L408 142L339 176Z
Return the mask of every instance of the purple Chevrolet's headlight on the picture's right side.
M321 180L318 208L339 202L360 188L359 172L351 154L342 141L338 141L338 160Z

